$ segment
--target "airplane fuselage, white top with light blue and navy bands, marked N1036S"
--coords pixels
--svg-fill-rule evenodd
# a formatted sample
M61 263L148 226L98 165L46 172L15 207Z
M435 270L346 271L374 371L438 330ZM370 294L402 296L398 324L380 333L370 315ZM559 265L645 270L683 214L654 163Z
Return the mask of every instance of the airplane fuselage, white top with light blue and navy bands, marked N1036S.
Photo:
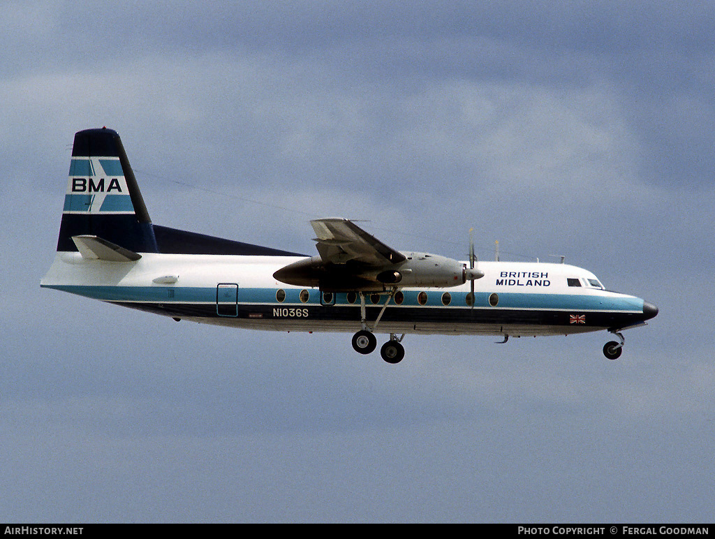
M355 332L364 312L368 323L380 316L375 332L567 335L636 325L644 314L643 300L603 290L591 272L568 264L478 262L484 276L470 305L470 282L363 299L272 277L301 259L142 253L136 262L107 262L58 252L41 285L174 319L279 331Z

